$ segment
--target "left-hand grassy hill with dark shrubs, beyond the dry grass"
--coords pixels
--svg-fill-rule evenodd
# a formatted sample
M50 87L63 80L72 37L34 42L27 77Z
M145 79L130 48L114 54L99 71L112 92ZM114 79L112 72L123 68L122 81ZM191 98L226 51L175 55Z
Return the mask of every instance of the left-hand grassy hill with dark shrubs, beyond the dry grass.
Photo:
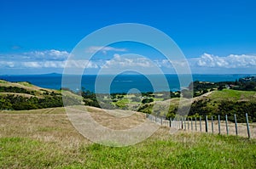
M0 80L0 110L36 110L66 104L82 104L81 97L61 90L37 87L29 82Z

